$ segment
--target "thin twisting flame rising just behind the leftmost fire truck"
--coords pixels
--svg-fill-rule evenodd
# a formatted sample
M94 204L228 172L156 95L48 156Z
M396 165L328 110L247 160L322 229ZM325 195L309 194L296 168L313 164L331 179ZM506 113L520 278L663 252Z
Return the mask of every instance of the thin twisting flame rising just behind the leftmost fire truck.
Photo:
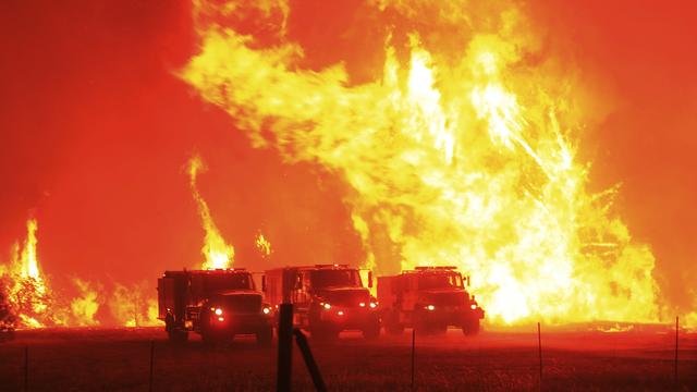
M196 186L196 175L203 170L205 170L205 167L200 157L193 157L188 161L188 175L191 180L192 194L198 205L201 225L206 231L206 238L204 247L201 248L201 253L206 257L203 268L231 268L234 261L235 249L232 245L228 245L222 235L220 235L220 231L210 216L208 205Z

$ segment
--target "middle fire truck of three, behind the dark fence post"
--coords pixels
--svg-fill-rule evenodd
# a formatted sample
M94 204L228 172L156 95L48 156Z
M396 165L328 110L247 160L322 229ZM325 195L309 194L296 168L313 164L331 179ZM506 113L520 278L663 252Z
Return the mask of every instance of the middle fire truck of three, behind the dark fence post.
M358 269L347 265L285 267L266 271L269 303L293 304L293 323L314 339L337 339L341 331L360 330L366 339L380 334L378 302L363 285ZM372 274L368 273L368 287Z

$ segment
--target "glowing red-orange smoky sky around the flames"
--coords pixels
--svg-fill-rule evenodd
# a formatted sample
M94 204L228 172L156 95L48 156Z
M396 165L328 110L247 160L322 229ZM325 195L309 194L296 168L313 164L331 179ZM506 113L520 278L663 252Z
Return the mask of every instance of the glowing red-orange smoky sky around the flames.
M531 1L527 10L542 52L587 87L579 156L592 162L591 187L622 184L617 212L651 246L662 295L688 309L695 5ZM366 1L291 1L288 36L304 48L302 66L343 62L357 84L382 70L381 17L392 21ZM262 25L241 28L265 36ZM340 176L253 148L176 77L199 45L188 2L3 1L0 45L0 260L36 217L41 267L57 282L155 283L164 269L198 265L204 232L185 170L194 154L208 167L198 186L236 266L363 260ZM260 258L259 233L273 258Z

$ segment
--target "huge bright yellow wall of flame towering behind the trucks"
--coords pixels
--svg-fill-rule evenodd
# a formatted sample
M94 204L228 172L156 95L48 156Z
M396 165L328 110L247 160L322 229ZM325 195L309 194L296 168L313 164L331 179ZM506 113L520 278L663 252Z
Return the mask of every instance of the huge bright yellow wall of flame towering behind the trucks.
M497 323L656 321L653 256L613 215L616 188L588 191L574 85L523 10L369 4L390 21L374 82L351 84L342 64L303 69L292 10L273 1L196 1L201 49L181 77L255 147L340 173L378 273L457 265ZM273 39L236 30L249 15L276 25Z

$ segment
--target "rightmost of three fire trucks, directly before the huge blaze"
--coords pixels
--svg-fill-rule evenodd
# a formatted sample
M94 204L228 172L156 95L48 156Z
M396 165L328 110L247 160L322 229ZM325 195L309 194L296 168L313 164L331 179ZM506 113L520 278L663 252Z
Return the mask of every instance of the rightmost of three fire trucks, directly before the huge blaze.
M390 334L401 334L405 327L430 333L444 333L450 326L462 328L466 335L479 332L484 309L470 295L469 277L456 267L416 267L401 274L378 278L378 299L382 323Z

